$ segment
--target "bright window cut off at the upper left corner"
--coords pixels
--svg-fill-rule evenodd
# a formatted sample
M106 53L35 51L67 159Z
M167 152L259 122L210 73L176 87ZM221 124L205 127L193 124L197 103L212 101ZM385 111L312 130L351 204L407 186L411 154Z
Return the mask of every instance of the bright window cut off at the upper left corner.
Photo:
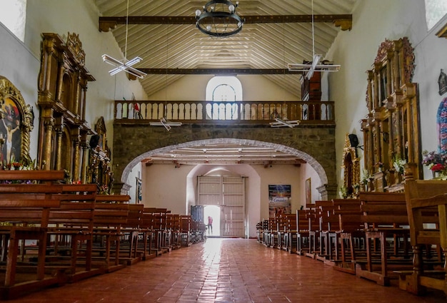
M26 0L0 1L0 22L20 41L24 42Z

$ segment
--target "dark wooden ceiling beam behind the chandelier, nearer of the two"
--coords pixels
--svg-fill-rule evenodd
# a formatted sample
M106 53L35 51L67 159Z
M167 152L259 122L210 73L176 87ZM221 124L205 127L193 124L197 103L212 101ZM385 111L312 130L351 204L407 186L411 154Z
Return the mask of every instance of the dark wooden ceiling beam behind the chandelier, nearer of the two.
M312 15L242 16L244 24L310 23ZM333 23L341 30L352 29L351 14L313 15L313 22ZM110 31L126 24L126 16L99 17L99 31ZM195 16L129 16L129 24L196 24Z

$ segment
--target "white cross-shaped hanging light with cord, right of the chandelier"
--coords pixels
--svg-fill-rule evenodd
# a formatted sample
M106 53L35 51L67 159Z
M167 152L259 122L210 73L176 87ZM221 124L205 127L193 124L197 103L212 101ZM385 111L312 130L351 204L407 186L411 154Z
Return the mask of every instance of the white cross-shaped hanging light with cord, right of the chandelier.
M303 71L306 72L306 78L311 80L315 71L338 71L339 65L334 65L332 62L324 60L321 61L322 56L315 53L315 35L314 35L314 20L313 20L313 0L312 0L312 54L313 58L311 62L288 63L287 67L289 71Z

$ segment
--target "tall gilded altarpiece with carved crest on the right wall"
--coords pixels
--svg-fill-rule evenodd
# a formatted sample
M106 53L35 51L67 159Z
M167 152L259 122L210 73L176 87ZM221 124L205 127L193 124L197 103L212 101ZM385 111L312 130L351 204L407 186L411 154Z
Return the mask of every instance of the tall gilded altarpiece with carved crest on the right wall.
M378 48L373 69L367 71L366 106L361 120L364 168L371 175L370 190L403 191L403 175L396 163L408 163L421 178L417 83L412 83L414 53L408 38L386 40Z

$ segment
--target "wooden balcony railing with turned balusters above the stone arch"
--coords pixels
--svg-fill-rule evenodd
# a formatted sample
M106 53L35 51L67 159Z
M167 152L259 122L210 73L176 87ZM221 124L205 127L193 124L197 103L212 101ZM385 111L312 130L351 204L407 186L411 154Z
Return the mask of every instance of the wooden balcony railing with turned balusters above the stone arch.
M275 118L300 124L335 124L333 101L115 101L115 121L266 124Z

